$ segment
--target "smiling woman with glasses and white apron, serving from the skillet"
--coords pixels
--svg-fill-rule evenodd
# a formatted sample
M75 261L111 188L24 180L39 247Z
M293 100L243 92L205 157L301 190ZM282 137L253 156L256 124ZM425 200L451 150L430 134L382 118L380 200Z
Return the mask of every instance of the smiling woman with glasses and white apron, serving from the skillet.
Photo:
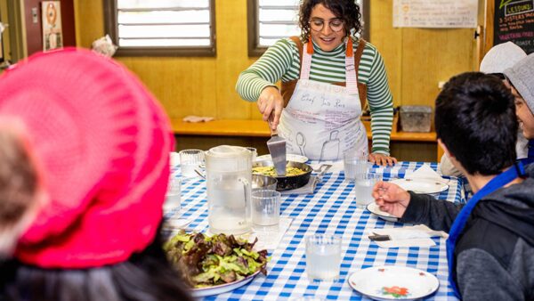
M353 0L304 0L301 37L279 40L239 75L239 95L257 102L263 120L286 138L288 153L320 160L342 159L348 150L369 153L360 121L368 101L368 159L396 162L389 150L393 107L384 61L359 38L360 18Z

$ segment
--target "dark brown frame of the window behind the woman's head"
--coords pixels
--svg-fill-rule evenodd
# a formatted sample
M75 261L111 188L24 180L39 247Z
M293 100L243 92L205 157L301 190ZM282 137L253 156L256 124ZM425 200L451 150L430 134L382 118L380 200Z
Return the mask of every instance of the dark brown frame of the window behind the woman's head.
M260 39L260 28L259 28L259 1L260 0L247 0L247 37L248 37L248 56L249 57L259 57L267 50L269 47L258 46ZM369 40L369 10L370 10L370 1L362 0L363 3L363 12L361 16L363 20L366 20L366 24L363 27L361 33L362 37L368 41Z

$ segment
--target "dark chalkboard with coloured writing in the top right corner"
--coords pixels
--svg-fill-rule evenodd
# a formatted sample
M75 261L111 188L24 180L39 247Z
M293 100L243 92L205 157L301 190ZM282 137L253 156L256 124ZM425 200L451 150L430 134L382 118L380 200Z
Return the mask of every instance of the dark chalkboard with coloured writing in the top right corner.
M495 0L493 45L514 42L534 53L534 0Z

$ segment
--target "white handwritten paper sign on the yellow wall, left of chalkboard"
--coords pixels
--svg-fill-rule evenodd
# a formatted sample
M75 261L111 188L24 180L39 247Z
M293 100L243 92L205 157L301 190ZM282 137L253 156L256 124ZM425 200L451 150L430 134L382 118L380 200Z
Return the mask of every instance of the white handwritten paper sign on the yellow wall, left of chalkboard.
M393 0L393 27L476 28L478 0Z

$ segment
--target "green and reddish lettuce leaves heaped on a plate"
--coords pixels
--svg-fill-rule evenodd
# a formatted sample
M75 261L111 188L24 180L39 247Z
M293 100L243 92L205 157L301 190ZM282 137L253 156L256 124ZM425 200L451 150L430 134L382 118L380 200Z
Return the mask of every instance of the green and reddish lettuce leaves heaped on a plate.
M257 271L267 274L267 250L255 251L254 242L233 235L183 230L166 242L163 248L174 266L182 272L183 281L199 289L239 281Z

